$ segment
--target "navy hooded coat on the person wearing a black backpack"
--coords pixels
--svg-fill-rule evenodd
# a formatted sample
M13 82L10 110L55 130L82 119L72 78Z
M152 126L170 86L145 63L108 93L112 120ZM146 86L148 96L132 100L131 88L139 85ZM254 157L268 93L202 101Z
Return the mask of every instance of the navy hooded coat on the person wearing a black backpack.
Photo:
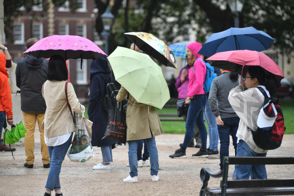
M102 74L105 79L113 77L110 75L111 71L108 67L107 59L105 57L100 57L96 60L91 60L90 63L90 96L89 96L89 107L88 115L89 120L93 122L92 125L92 146L108 146L116 143L115 140L103 139L106 128L107 128L107 113L102 110L100 98L104 97L106 82L100 74ZM113 80L114 82L114 80Z

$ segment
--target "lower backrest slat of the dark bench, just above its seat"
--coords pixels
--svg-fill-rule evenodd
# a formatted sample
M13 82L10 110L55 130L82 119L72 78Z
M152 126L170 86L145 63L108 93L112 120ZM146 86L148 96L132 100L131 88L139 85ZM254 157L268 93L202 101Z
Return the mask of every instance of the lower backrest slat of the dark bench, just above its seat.
M222 186L220 181L220 187ZM283 187L294 186L294 179L228 180L227 188Z

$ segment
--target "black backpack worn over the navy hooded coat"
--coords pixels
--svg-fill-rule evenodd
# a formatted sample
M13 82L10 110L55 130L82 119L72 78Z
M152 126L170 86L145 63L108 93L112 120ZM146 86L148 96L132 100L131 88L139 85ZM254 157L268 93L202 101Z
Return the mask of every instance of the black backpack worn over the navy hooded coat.
M100 98L100 103L102 105L102 109L108 113L108 110L113 110L117 104L116 95L118 94L118 90L113 83L113 79L108 76L107 79L102 74L102 76L106 83L104 97Z

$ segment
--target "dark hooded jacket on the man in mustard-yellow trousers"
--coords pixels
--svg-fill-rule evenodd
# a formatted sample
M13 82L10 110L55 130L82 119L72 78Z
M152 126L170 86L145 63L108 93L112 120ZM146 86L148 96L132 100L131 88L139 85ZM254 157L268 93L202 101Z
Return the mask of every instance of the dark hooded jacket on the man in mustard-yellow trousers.
M17 62L16 86L21 89L21 111L45 113L42 85L47 80L48 61L28 55Z

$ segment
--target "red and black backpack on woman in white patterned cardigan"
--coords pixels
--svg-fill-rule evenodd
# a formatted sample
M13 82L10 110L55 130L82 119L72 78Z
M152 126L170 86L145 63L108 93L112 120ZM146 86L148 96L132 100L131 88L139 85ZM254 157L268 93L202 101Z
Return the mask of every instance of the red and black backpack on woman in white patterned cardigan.
M268 131L259 127L256 131L252 131L253 140L259 148L264 150L273 150L281 146L284 131L286 131L283 112L279 106L279 100L277 98L269 98L262 87L257 88L265 97L263 107L265 108L264 111L266 111L266 115L274 116L273 107L271 105L271 103L273 103L277 110L277 118L274 121L273 126Z

